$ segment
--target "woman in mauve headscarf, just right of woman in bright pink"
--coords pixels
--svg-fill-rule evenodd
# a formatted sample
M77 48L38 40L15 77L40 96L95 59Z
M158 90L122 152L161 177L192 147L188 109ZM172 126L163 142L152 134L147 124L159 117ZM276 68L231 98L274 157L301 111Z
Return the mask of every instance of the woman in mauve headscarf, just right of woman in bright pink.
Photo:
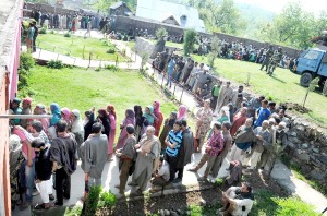
M135 112L133 109L126 109L125 119L120 124L120 135L116 145L116 149L120 149L124 146L125 140L128 139L126 127L129 124L135 125Z

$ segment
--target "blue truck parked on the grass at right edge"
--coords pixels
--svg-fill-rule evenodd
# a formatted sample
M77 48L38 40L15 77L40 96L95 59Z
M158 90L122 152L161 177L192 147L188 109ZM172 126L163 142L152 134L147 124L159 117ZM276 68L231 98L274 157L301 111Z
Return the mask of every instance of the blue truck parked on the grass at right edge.
M326 51L311 48L301 52L293 70L301 75L302 86L307 87L313 79L319 77L319 86L323 88L327 77Z

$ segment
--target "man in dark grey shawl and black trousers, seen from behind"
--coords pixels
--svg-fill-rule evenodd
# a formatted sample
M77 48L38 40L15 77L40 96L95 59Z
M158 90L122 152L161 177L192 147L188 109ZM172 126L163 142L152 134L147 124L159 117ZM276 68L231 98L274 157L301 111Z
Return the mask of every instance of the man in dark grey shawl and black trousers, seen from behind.
M52 172L56 172L56 205L63 205L63 197L71 196L71 175L76 170L77 143L72 133L66 132L68 123L59 120L57 123L57 137L50 147ZM107 153L107 152L106 152Z

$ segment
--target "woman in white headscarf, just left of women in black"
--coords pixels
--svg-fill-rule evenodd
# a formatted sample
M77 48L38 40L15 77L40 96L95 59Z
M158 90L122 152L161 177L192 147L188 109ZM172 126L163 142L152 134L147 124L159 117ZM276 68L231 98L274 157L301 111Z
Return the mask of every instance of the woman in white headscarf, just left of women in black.
M75 135L75 140L77 142L77 153L81 158L80 146L84 142L84 127L81 120L81 113L78 109L73 109L70 116L72 121L71 132Z

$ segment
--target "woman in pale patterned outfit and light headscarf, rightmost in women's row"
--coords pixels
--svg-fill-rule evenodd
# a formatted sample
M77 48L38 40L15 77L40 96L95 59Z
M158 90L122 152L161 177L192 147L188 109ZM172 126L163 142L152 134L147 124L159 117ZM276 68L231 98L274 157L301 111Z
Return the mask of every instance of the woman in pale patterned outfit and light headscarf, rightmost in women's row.
M213 120L213 110L210 108L209 99L206 99L204 101L204 107L196 112L196 120L195 141L197 142L197 145L195 146L195 152L199 153Z

